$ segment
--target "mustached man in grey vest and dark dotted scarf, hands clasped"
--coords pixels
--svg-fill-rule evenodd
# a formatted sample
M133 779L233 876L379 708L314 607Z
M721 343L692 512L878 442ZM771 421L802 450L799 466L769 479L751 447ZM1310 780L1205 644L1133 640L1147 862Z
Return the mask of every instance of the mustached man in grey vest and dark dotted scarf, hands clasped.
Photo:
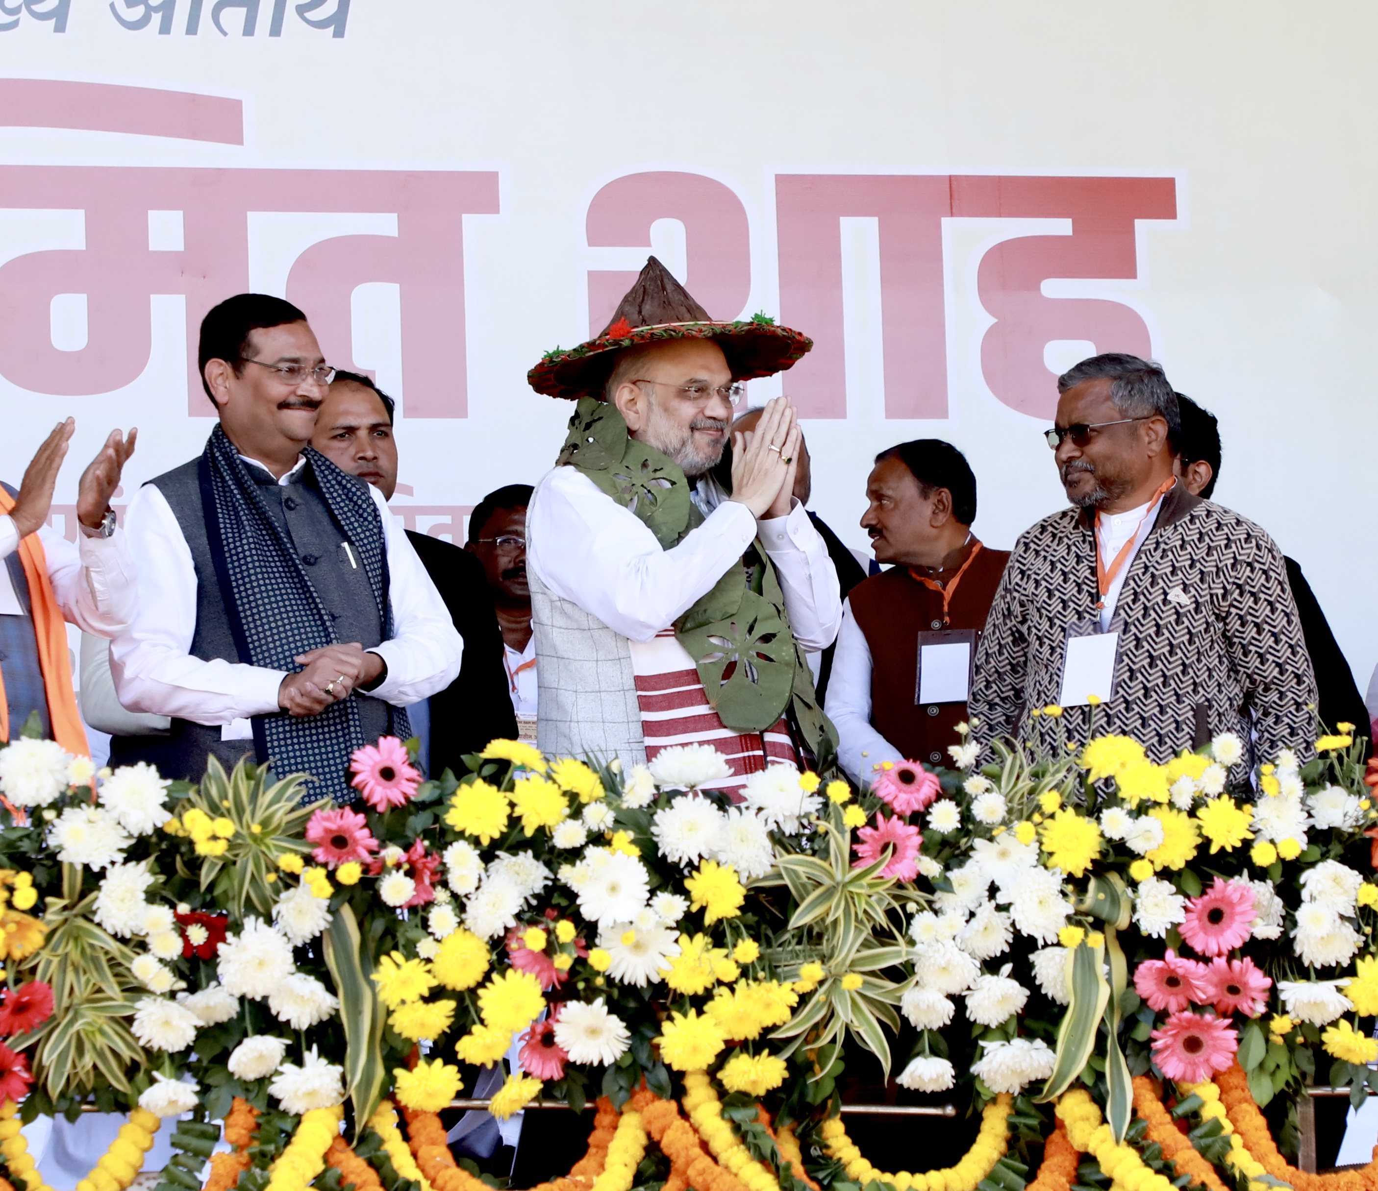
M198 362L220 421L130 505L141 604L110 650L120 702L172 724L114 738L112 763L196 781L251 752L307 774L306 801L349 801L350 755L409 737L407 706L453 680L463 643L382 493L309 445L333 369L306 315L227 299Z

